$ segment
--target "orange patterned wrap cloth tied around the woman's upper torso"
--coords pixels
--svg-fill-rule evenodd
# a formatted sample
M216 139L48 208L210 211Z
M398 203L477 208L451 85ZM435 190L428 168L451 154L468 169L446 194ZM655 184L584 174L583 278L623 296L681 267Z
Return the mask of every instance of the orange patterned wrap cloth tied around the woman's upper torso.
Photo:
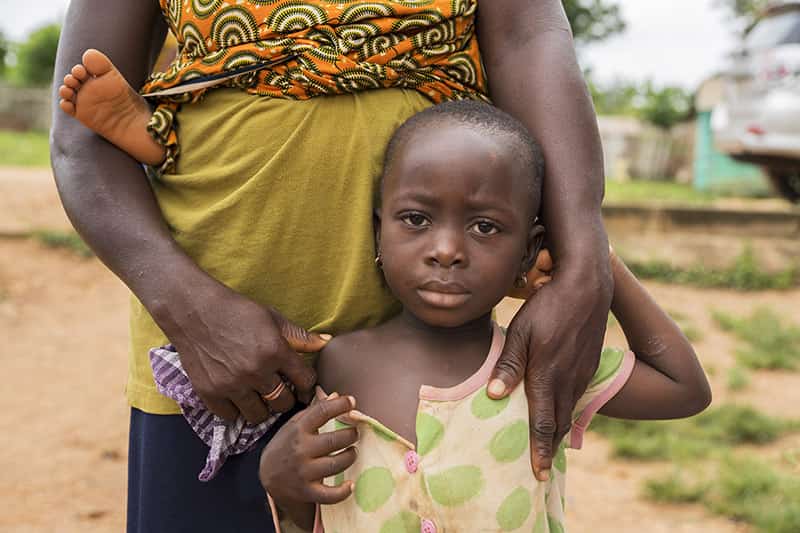
M175 117L209 86L305 100L406 88L434 103L483 99L475 35L478 0L160 0L178 56L142 94L155 99L148 125L179 153Z

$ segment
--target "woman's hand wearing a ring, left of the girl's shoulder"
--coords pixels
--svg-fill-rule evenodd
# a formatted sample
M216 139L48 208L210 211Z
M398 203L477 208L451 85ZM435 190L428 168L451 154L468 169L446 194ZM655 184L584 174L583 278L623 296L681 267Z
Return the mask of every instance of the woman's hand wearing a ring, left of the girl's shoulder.
M285 412L295 396L311 398L314 370L297 352L317 352L330 339L309 333L211 278L167 300L156 320L181 354L192 387L206 406L228 420L239 413L253 424ZM286 378L280 396L265 402ZM269 408L268 408L269 407Z

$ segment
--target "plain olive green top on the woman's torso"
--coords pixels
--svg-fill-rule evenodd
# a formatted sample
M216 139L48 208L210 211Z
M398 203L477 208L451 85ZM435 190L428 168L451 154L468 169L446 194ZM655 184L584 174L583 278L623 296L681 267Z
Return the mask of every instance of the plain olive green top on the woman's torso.
M180 246L227 286L312 331L372 326L399 311L374 263L383 152L429 105L403 89L303 101L210 91L181 109L181 157L153 190ZM148 358L167 339L135 298L130 325L130 404L179 413Z

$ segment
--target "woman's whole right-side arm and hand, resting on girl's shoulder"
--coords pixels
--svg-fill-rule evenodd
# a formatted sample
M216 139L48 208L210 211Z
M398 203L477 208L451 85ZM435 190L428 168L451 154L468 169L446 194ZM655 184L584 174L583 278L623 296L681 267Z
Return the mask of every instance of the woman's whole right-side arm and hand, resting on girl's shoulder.
M561 2L481 1L478 40L492 100L528 127L547 166L542 214L558 269L511 323L493 375L501 382L490 385L499 397L525 378L541 478L597 368L611 302L602 151Z

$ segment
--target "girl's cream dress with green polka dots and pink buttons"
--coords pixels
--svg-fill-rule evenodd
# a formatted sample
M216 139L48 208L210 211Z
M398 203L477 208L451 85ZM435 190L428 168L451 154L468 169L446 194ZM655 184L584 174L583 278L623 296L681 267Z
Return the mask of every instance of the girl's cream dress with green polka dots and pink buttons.
M420 389L416 447L360 413L321 429L358 425L360 443L358 459L344 475L325 480L328 485L354 480L353 497L318 508L315 532L564 531L565 448L580 448L591 417L624 385L634 357L603 351L573 413L573 429L555 455L550 480L539 482L530 468L523 388L503 400L486 394L503 341L495 327L486 362L463 383ZM321 391L318 395L324 397ZM288 531L293 529L283 528Z

